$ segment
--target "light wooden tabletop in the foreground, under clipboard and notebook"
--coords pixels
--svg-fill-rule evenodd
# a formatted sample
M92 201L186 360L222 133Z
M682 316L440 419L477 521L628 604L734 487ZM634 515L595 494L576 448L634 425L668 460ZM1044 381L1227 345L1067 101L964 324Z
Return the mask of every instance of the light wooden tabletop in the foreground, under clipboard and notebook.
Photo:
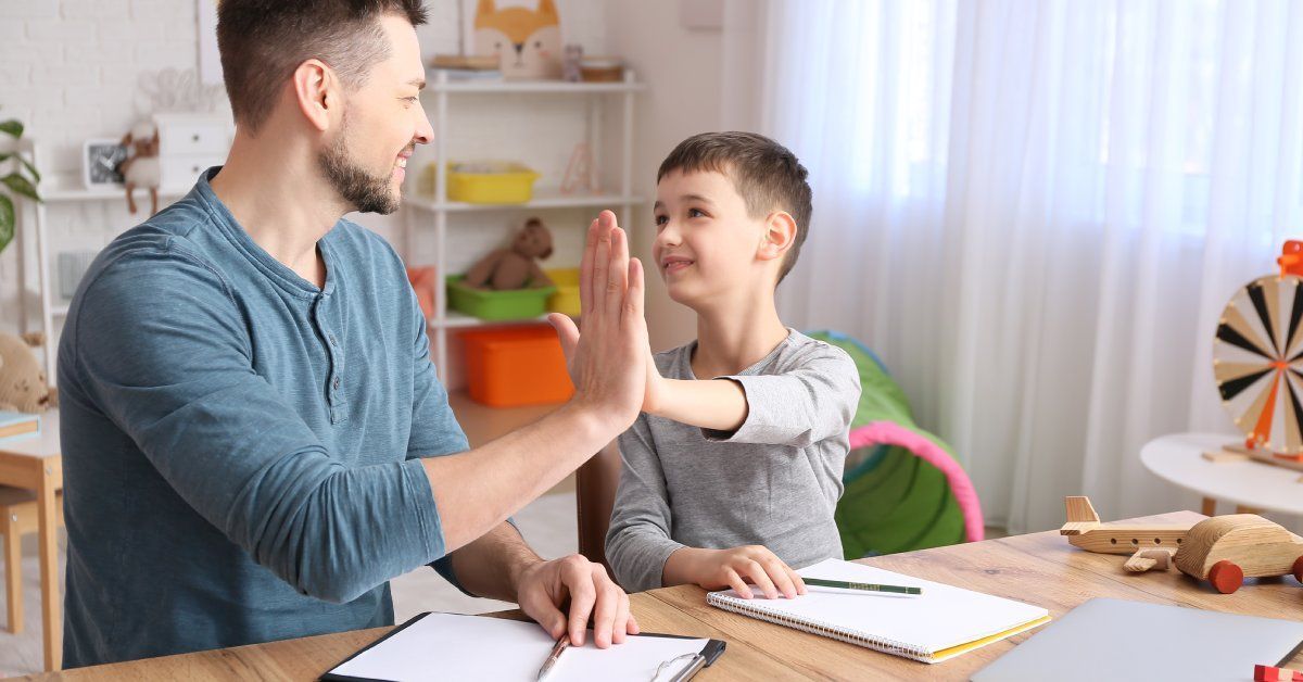
M1186 523L1203 516L1179 511L1136 522ZM929 580L980 589L1028 601L1054 617L1092 597L1117 597L1156 604L1269 617L1303 614L1303 588L1293 578L1248 580L1234 595L1218 595L1178 572L1127 574L1126 557L1092 554L1067 544L1057 531L968 545L865 559L864 563ZM708 606L696 587L654 589L631 597L633 613L646 631L724 639L728 649L697 679L791 678L968 679L988 662L1037 630L926 665L779 627ZM519 617L519 612L499 615ZM42 679L314 679L388 629L358 630L297 640L254 644L181 656L85 668ZM1294 666L1303 666L1303 653ZM1160 665L1161 669L1161 665ZM1250 673L1246 672L1246 675Z

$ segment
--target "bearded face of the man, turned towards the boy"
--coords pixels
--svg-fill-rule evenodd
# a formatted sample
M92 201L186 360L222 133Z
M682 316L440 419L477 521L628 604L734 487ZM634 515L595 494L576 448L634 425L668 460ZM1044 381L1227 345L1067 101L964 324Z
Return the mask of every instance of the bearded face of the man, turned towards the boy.
M390 214L399 207L412 150L429 143L434 130L421 107L425 68L416 30L396 16L379 22L390 56L371 67L361 87L345 93L339 129L319 163L354 210Z

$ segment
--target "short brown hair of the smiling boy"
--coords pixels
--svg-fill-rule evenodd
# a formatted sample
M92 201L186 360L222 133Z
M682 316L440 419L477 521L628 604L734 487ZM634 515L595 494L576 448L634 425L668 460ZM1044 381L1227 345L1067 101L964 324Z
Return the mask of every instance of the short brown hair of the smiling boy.
M774 209L787 211L796 222L796 239L783 257L778 282L787 276L801 254L813 210L810 185L805 181L809 173L795 154L762 134L701 133L674 147L661 162L655 181L674 171L726 175L747 202L747 213L752 218L764 218Z

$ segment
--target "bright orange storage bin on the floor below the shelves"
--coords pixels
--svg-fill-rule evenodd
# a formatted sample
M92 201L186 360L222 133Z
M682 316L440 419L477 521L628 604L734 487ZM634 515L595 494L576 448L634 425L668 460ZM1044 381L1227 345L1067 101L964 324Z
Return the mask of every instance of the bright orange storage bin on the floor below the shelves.
M550 326L461 333L470 399L490 407L564 403L575 394Z

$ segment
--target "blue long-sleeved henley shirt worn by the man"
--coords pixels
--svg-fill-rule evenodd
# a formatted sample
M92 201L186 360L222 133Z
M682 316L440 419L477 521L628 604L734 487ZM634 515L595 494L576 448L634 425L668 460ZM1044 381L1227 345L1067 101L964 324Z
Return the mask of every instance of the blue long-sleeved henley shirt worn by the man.
M403 262L340 220L318 289L218 171L113 240L69 309L68 666L391 625L387 580L444 556L418 458L466 439Z

